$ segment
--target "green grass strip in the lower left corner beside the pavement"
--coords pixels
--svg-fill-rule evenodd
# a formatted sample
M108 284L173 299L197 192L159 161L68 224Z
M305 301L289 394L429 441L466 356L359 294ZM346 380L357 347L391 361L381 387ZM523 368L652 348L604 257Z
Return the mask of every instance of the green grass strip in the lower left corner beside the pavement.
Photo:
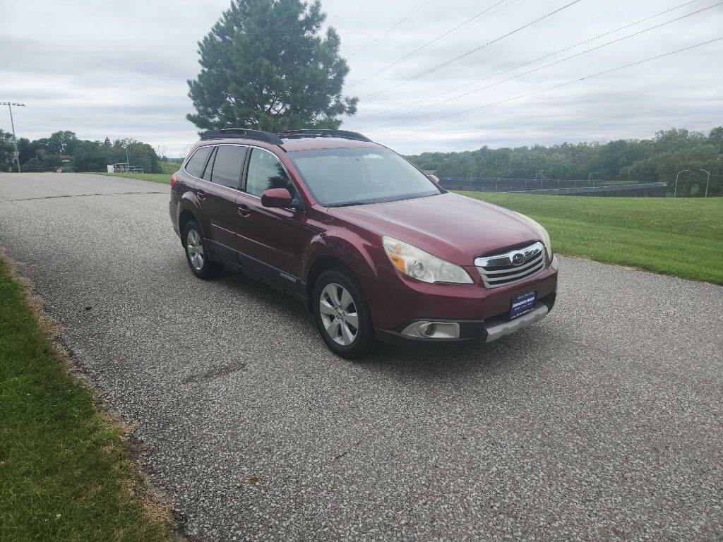
M122 445L0 260L0 540L163 541Z

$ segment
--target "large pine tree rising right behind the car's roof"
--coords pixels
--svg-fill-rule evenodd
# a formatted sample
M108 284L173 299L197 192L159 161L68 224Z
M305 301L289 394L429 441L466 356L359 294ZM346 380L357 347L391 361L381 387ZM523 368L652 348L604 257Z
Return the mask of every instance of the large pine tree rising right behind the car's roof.
M318 0L232 0L198 43L201 72L189 80L201 129L280 132L338 128L358 98L342 97L348 65Z

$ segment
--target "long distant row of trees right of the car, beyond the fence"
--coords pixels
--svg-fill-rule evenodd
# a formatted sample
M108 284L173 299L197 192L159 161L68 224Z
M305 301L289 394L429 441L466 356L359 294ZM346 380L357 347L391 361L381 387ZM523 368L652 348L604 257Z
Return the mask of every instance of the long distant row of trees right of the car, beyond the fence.
M408 156L440 177L502 177L633 180L667 182L672 192L678 171L678 193L702 196L711 172L709 195L723 195L723 126L709 134L686 129L662 130L653 139L620 139L609 143L563 143L466 152L423 152Z

